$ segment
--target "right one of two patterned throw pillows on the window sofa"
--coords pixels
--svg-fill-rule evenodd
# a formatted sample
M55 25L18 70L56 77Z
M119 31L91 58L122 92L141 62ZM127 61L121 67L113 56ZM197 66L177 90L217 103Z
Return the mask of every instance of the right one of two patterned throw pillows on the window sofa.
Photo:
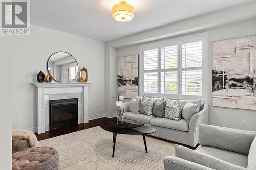
M181 119L181 105L179 100L167 100L164 117L172 120Z

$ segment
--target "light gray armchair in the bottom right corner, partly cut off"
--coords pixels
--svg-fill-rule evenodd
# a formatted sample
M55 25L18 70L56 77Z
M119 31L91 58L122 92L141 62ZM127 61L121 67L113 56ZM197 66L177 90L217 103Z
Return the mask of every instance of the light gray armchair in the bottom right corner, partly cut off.
M199 124L199 147L179 145L164 159L165 170L255 170L255 132Z

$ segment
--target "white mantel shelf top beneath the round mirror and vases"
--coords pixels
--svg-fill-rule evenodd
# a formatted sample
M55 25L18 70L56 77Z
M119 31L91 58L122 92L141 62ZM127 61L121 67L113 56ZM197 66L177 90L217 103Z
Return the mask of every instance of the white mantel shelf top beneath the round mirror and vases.
M89 86L92 83L79 83L79 82L70 82L70 83L32 83L35 87L83 87Z

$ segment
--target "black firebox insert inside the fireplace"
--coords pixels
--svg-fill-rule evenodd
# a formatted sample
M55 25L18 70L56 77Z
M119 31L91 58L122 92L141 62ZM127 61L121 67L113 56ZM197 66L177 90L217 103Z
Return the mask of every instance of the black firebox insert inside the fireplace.
M50 100L50 129L78 124L78 98Z

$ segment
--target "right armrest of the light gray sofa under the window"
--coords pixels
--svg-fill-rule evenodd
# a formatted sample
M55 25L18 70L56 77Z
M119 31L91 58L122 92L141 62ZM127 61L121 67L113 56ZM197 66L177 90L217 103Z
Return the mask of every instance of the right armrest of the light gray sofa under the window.
M208 114L208 104L204 103L203 109L191 117L188 127L189 146L196 147L196 145L198 144L198 124L208 124Z

